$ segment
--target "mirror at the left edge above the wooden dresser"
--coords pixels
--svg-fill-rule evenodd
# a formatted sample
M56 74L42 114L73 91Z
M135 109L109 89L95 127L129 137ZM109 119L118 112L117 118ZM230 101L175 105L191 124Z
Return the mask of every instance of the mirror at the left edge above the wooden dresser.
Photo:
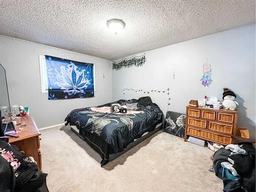
M5 68L0 63L0 108L1 106L6 106L8 109L10 108L10 101L9 101L9 94L8 94L8 87L7 87L7 79L6 79L6 72ZM4 111L2 110L2 117L5 116Z

